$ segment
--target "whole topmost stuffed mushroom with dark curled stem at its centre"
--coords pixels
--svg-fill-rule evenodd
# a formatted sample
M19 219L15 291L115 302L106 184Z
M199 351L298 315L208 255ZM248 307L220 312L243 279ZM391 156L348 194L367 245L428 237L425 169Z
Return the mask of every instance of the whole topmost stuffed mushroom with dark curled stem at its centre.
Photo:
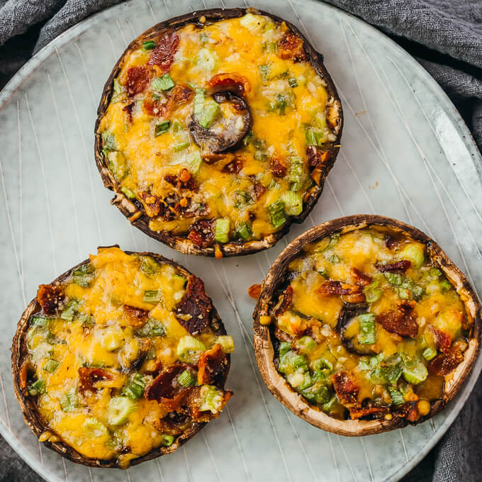
M323 57L296 27L213 9L130 43L103 90L95 155L133 225L223 257L267 249L306 218L341 133Z

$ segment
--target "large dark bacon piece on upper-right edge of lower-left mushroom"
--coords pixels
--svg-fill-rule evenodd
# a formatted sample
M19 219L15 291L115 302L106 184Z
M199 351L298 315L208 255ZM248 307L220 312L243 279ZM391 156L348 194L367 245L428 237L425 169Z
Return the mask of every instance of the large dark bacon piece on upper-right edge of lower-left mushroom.
M211 300L206 295L204 283L197 276L191 275L186 292L176 306L176 318L191 335L201 333L209 325L209 313L213 309Z

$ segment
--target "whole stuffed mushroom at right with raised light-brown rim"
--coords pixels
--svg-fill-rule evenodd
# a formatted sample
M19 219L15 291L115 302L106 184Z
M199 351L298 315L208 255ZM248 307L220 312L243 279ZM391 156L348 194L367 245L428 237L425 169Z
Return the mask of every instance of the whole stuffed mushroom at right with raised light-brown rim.
M254 350L271 393L339 435L438 413L469 375L480 336L476 294L447 254L376 215L330 220L296 238L254 311Z

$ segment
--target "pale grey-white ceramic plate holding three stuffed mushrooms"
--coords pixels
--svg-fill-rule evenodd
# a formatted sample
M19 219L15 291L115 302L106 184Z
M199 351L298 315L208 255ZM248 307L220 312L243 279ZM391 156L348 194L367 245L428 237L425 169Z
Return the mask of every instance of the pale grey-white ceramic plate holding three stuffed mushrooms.
M225 1L237 6L240 1ZM132 0L68 30L21 69L0 94L0 432L49 481L396 481L442 437L481 371L441 414L417 427L344 438L308 425L265 388L252 350L259 282L288 240L340 215L378 213L439 241L482 288L481 156L452 103L430 75L365 23L311 0L252 1L288 19L325 55L344 108L342 149L303 225L279 245L237 259L184 257L128 225L109 205L94 163L94 121L114 62L143 30L218 0ZM223 415L176 453L128 471L87 469L41 447L13 396L9 348L38 284L98 245L173 257L206 281L235 337Z

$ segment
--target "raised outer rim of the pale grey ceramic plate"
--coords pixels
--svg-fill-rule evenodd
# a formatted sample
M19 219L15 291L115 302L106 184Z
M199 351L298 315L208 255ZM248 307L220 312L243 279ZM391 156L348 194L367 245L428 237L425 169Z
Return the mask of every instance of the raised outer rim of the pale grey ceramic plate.
M4 108L6 103L9 101L9 98L11 95L13 95L19 88L21 88L21 85L23 82L28 79L28 77L35 72L38 67L40 67L45 60L47 60L50 55L53 55L55 51L57 50L57 47L62 47L69 43L70 41L74 40L75 38L79 37L82 35L82 33L86 32L89 28L93 27L98 21L101 20L101 18L110 18L111 16L116 15L116 11L123 11L123 10L128 10L130 9L130 5L134 4L136 0L132 0L129 2L121 2L119 4L115 4L112 6L109 6L106 9L102 9L101 11L98 11L94 13L93 15L84 18L82 21L79 21L79 23L76 23L74 26L67 28L64 32L60 33L60 35L57 35L54 39L52 39L47 45L42 47L38 52L33 55L17 72L16 74L13 75L13 77L7 82L7 84L4 86L4 88L0 91L0 111L1 109ZM140 0L137 0L140 1ZM291 9L293 10L293 13L295 14L296 17L296 11L294 10L294 6L292 4L291 0L287 0L288 4L290 4ZM410 55L403 47L400 47L398 43L395 42L392 38L388 37L386 33L383 33L381 30L378 28L372 26L370 23L367 23L366 21L362 20L361 18L358 18L357 16L352 15L351 13L348 13L347 11L344 11L336 6L328 5L325 4L324 2L317 1L317 0L298 0L298 1L304 1L308 4L308 6L313 6L316 5L317 8L320 7L321 9L326 9L326 11L330 11L330 13L334 16L338 17L348 17L350 21L352 21L355 25L360 26L361 28L364 28L366 31L371 33L371 35L375 35L378 37L381 41L385 42L388 47L391 47L391 49L395 49L398 55L401 55L405 61L411 64L413 69L416 70L417 74L419 75L420 79L422 79L423 82L425 82L425 85L427 86L427 89L430 89L435 96L437 96L437 100L439 101L440 105L442 108L444 108L444 111L447 113L449 118L454 122L454 125L456 126L457 133L459 134L462 142L466 146L467 150L469 151L470 154L470 160L473 164L473 167L475 167L476 172L479 176L479 178L482 180L482 155L481 152L478 150L478 147L476 145L476 142L473 138L473 135L471 133L471 130L469 127L466 125L464 119L461 117L461 113L456 109L454 106L454 103L452 100L449 98L447 93L442 89L442 86L440 86L437 81L430 75L430 73L423 67L420 62L418 62L415 57ZM234 7L225 7L225 9L230 9ZM253 6L252 8L256 9L257 7ZM262 9L262 8L260 8ZM196 11L201 11L204 9L197 9ZM159 20L162 21L162 20ZM302 23L299 18L294 18L293 23L295 25ZM304 26L302 27L304 28ZM479 353L478 359L476 360L476 364L473 366L473 369L471 371L471 374L469 376L469 379L466 380L464 383L464 386L461 388L459 393L456 395L456 398L452 400L451 403L449 403L449 407L452 407L452 411L444 417L444 420L442 424L438 427L437 431L432 435L430 440L425 444L425 446L420 450L420 452L417 452L415 456L413 456L411 459L407 461L407 463L400 468L398 471L395 473L392 473L390 476L388 476L386 479L384 479L384 482L396 482L399 481L400 478L403 478L410 470L412 470L417 464L420 463L422 459L425 458L425 456L430 452L430 450L435 447L437 442L445 435L447 430L449 430L449 427L452 425L454 422L455 418L459 415L461 412L462 408L464 408L464 405L466 403L466 400L469 398L473 387L476 384L476 381L478 379L479 374L481 373L482 370L482 354ZM447 408L444 409L444 411L447 410ZM6 442L9 443L9 445L12 447L12 449L18 454L18 456L21 457L23 461L30 466L33 471L38 473L39 476L43 477L45 480L55 480L55 481L60 481L61 479L58 478L55 473L52 473L47 469L45 466L41 466L38 464L38 461L33 458L33 456L30 455L30 452L23 447L22 443L16 435L9 430L9 427L7 427L3 421L0 421L0 434Z

